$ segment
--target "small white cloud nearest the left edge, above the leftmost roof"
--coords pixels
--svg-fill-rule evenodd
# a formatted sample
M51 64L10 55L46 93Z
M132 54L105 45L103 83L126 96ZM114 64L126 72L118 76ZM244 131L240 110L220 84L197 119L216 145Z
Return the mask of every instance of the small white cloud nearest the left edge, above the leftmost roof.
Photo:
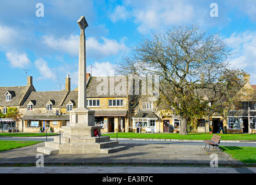
M14 68L24 68L24 66L30 64L26 53L18 54L16 52L8 52L5 55Z

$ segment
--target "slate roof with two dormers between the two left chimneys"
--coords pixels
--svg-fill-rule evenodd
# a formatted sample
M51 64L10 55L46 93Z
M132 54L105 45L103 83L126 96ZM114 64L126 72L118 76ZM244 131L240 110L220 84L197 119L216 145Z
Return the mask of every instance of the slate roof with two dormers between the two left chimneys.
M45 108L46 103L51 100L54 101L55 104L52 105L53 108L59 108L66 98L68 92L67 91L45 91L45 92L31 92L29 97L20 106L20 108L27 108L28 103L35 102L34 108Z

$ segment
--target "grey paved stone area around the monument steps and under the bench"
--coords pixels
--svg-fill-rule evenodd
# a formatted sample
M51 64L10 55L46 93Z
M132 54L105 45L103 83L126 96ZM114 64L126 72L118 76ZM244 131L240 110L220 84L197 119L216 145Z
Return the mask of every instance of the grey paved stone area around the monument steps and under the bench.
M127 147L126 150L111 154L57 154L44 156L46 164L102 164L102 163L125 163L125 164L200 164L209 165L212 158L203 146L199 145L171 145L167 144L121 144ZM44 146L39 143L33 146L22 147L9 151L0 152L0 165L4 164L35 164L38 158L37 147ZM215 152L217 153L217 152ZM240 161L234 160L228 154L219 152L219 165L243 165Z

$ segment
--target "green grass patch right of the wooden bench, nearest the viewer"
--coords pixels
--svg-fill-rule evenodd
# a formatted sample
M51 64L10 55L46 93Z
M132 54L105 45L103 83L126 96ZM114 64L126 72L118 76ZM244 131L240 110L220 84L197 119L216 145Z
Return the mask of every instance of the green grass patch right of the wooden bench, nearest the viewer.
M220 148L243 163L256 164L256 147L221 146Z

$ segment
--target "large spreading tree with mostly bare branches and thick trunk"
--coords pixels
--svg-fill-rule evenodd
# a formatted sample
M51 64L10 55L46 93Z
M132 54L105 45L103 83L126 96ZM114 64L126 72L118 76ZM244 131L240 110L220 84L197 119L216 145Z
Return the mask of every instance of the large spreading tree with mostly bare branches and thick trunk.
M123 73L159 75L159 101L164 109L181 117L180 134L186 135L192 117L222 107L223 100L232 101L241 88L243 72L227 69L230 54L218 34L207 34L193 25L181 26L143 40L120 69Z

